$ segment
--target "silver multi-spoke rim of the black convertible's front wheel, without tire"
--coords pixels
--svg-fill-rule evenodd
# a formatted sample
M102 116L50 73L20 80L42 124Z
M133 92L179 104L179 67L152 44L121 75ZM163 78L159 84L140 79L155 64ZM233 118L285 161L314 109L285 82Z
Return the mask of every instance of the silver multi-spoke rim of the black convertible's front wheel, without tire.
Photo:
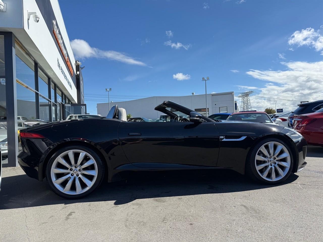
M258 149L255 166L258 174L267 181L282 179L290 167L287 147L276 141L267 142Z

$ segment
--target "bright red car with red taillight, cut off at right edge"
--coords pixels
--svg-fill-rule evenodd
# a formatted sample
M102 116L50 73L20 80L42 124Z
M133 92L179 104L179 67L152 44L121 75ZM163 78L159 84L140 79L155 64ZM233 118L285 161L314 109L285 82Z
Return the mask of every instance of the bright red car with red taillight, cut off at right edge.
M308 144L323 147L323 108L314 113L295 116L293 126Z

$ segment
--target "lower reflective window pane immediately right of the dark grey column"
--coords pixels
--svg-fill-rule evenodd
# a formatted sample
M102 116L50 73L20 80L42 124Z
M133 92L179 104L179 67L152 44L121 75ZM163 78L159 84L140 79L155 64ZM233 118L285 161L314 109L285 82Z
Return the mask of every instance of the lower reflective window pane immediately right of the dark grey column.
M17 82L17 116L36 119L36 96L33 91Z

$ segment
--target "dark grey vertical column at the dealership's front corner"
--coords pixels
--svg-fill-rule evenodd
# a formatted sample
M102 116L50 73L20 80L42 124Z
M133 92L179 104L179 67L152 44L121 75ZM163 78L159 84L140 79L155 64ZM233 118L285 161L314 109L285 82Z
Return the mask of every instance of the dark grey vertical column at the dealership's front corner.
M18 166L18 123L15 35L5 32L5 92L7 106L8 166Z

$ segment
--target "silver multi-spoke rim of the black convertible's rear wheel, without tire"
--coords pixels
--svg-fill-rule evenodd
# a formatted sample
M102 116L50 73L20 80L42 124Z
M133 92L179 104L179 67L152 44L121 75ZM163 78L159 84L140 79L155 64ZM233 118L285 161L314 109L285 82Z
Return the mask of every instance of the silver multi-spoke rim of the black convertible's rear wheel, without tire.
M57 156L50 170L54 186L68 195L89 190L98 176L95 159L83 150L68 150Z

